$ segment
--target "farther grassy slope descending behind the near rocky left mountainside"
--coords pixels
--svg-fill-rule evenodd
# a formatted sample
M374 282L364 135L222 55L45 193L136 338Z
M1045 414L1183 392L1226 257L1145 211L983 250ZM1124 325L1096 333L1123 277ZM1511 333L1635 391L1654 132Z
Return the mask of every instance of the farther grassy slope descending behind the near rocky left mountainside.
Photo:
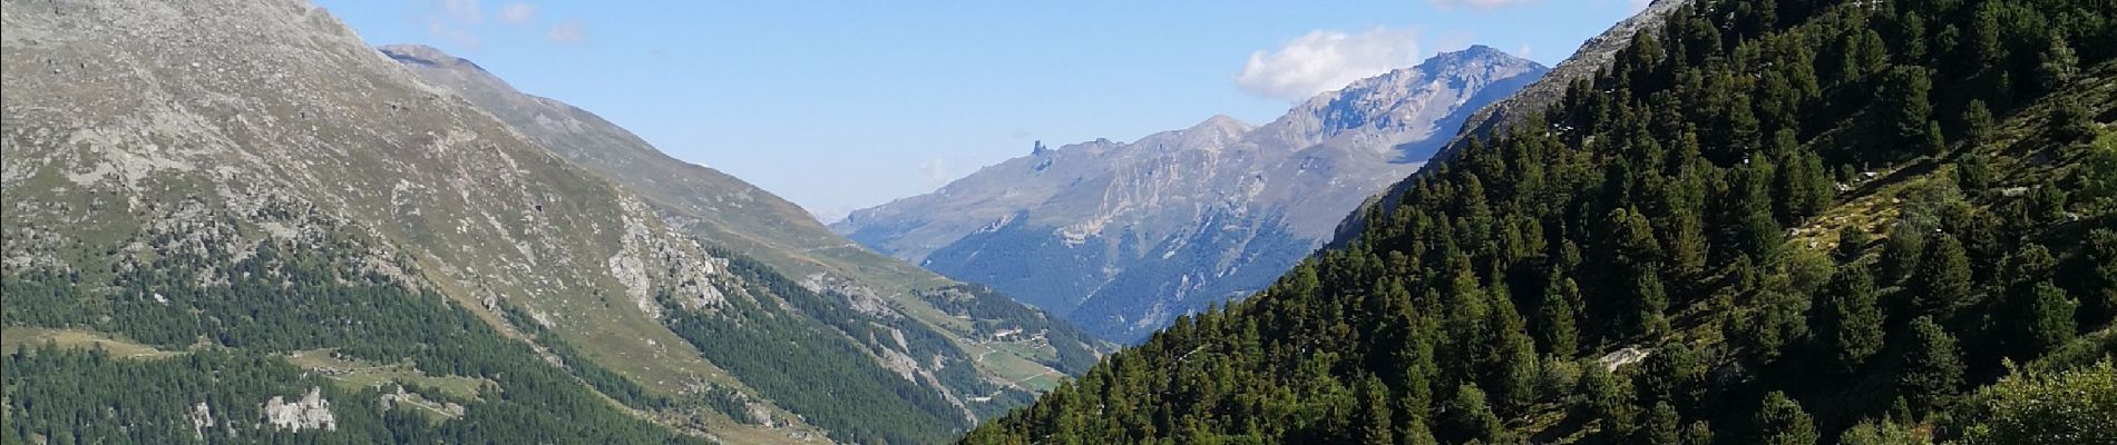
M997 413L1016 407L1031 392L1056 384L1056 375L1080 373L1086 361L1107 350L1105 344L1080 333L1035 310L1003 310L1001 318L982 318L967 312L946 312L919 297L957 283L906 262L868 251L851 240L832 234L794 202L749 186L720 171L682 162L654 150L637 135L567 103L514 91L497 76L459 57L451 57L430 46L383 46L392 59L419 74L421 80L464 95L478 108L508 122L538 146L580 165L610 181L637 192L667 224L705 238L711 245L749 255L768 268L794 276L811 291L847 297L862 318L891 325L895 318L917 321L921 329L934 331L953 352L948 356L978 356L967 363L987 384L1006 388L1006 396L976 401L972 392L984 384L953 382L936 386L938 392L953 392L957 403L970 405L976 415ZM1014 299L1003 295L980 306L1008 306ZM980 323L963 323L980 321ZM1014 342L995 342L1006 329L1020 329ZM879 361L893 361L891 367L910 367L915 373L931 378L948 373L934 365L931 356L919 361L889 359L887 337L864 340Z

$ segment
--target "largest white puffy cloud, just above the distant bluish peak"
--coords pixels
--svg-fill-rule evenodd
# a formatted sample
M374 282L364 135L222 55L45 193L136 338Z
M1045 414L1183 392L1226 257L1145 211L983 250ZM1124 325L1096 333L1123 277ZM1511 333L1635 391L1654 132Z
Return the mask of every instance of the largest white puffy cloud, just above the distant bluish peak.
M1418 32L1374 27L1361 34L1315 30L1279 51L1257 51L1234 86L1257 97L1300 101L1353 80L1418 63Z

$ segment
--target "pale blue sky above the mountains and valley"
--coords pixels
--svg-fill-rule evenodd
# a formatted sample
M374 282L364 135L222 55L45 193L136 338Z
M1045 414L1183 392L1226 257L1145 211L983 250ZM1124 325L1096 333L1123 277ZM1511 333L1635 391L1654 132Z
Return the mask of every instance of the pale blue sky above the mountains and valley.
M1130 141L1488 44L1545 65L1639 0L320 0L834 219L1031 141Z

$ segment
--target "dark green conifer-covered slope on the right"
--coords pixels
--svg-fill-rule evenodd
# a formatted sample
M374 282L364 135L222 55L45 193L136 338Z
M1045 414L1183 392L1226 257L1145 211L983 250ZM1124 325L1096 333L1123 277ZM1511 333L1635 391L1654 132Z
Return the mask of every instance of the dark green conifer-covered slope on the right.
M965 443L2109 443L2113 11L1683 6Z

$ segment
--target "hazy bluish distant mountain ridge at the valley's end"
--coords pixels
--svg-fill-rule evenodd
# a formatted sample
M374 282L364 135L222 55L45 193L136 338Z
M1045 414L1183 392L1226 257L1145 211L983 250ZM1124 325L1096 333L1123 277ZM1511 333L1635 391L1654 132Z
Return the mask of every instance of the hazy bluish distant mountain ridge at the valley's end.
M1039 150L832 230L1130 342L1266 285L1416 171L1471 110L1543 72L1490 46L1442 53L1260 127L1213 116L1130 143Z

